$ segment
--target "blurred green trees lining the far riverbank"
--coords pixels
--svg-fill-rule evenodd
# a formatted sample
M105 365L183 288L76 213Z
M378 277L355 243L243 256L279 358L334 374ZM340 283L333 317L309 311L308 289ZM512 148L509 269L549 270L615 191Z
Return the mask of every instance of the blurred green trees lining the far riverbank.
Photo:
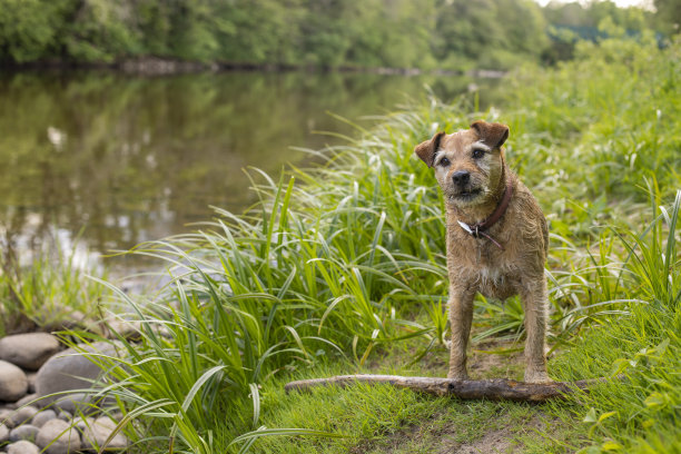
M0 0L0 62L114 63L155 57L503 69L560 58L564 49L551 52L551 24L598 24L605 16L623 27L647 21L641 10L610 2L542 9L532 0Z

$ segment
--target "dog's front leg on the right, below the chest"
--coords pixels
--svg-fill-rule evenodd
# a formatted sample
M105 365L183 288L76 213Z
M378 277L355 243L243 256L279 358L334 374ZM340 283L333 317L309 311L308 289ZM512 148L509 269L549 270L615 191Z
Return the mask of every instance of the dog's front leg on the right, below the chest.
M525 309L525 382L546 383L546 310L549 294L542 275L523 282L521 299Z

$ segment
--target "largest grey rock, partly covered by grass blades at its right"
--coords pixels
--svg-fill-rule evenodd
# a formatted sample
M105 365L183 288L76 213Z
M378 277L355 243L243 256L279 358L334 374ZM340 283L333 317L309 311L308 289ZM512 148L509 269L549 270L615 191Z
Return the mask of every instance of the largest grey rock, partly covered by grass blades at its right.
M98 342L83 348L86 352L99 352L115 355L116 349L109 343ZM71 389L87 389L92 386L101 374L101 369L83 354L69 348L52 356L38 371L36 393L40 397ZM60 396L46 397L46 404L55 402Z

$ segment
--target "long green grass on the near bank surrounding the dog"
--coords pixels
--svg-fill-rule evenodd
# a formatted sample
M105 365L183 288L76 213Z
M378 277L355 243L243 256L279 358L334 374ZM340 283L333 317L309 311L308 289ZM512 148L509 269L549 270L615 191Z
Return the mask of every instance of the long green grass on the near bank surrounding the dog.
M144 332L121 339L122 358L97 358L135 421L121 428L141 452L432 452L438 433L461 444L494 431L527 452L678 452L680 49L584 43L575 61L510 76L503 111L408 106L317 154L318 168L280 181L254 170L246 214L218 209L194 235L140 245L174 279L149 300L117 293ZM626 381L535 407L386 387L285 396L292 377L442 374L428 358L448 336L443 207L412 150L481 117L511 126L510 160L551 224L550 375ZM519 302L476 307L475 340L516 351Z

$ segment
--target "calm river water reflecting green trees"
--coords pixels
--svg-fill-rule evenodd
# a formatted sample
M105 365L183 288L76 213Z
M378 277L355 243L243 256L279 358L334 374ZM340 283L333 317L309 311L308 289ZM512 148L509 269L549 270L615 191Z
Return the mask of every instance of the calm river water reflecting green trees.
M0 75L0 233L20 250L59 243L96 254L190 230L209 205L251 203L243 169L277 177L352 134L327 111L361 120L424 83L442 99L471 79L227 72ZM478 85L485 82L477 81ZM493 83L492 81L487 83ZM367 126L367 122L363 122Z

